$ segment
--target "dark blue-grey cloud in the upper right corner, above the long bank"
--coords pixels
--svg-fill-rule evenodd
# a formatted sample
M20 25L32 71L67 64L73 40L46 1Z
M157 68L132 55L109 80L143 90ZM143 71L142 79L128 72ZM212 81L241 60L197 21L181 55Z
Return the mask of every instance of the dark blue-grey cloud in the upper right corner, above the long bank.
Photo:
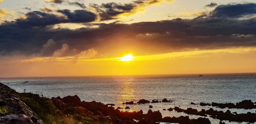
M239 18L256 14L256 3L220 5L212 11L212 17Z

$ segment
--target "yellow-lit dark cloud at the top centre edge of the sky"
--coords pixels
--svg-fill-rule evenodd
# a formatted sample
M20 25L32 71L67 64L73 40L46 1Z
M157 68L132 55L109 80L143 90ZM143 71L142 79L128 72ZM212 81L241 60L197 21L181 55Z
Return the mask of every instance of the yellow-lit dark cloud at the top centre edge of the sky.
M135 0L132 3L102 3L101 5L91 3L90 9L95 10L100 17L100 20L117 19L118 16L130 16L138 11L144 11L147 6L172 2L173 0Z

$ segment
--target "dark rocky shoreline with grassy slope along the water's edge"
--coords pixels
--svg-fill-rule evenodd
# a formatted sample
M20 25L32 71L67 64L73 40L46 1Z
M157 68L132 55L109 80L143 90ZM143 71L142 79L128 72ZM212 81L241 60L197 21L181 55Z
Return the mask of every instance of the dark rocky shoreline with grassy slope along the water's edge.
M162 101L152 100L150 102L140 99L137 103L128 101L123 104L157 104L158 102L172 101L163 99ZM250 104L248 101L239 102L240 106L244 106L244 103ZM189 116L163 117L159 110L148 110L146 113L143 113L142 110L124 112L119 110L120 107L112 107L114 105L96 101L81 101L76 95L49 99L32 93L17 93L0 83L0 124L157 124L159 122L211 124L209 118L205 117L237 122L256 122L256 113L237 114L231 113L229 110L223 112L212 108L201 111L193 108L184 110L179 107L167 109L169 111L175 110L178 113L201 116L197 119L191 119ZM149 107L152 108L153 106ZM220 121L219 124L225 123Z

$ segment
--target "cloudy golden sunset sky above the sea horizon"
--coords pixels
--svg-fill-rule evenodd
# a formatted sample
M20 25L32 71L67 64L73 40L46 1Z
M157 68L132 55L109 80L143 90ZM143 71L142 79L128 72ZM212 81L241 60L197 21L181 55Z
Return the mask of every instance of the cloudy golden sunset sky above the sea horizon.
M0 77L256 73L255 29L255 0L0 0Z

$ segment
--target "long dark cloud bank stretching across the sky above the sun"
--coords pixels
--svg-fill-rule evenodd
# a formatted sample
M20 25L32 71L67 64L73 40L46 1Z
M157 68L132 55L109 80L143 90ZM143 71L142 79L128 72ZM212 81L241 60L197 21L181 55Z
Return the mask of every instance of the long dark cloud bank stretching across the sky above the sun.
M216 9L212 14L214 11ZM256 18L238 20L234 17L209 15L186 20L177 18L133 24L95 24L99 28L94 29L52 29L49 25L56 23L93 21L93 18L84 20L84 17L93 15L88 14L88 11L58 12L67 17L33 11L27 14L27 19L2 23L0 53L8 55L19 51L23 54L50 56L64 44L68 45L69 50L76 49L76 54L90 48L99 50L99 53L106 52L106 49L109 52L109 49L137 48L136 50L153 51L156 48L154 51L161 53L187 49L256 46Z

